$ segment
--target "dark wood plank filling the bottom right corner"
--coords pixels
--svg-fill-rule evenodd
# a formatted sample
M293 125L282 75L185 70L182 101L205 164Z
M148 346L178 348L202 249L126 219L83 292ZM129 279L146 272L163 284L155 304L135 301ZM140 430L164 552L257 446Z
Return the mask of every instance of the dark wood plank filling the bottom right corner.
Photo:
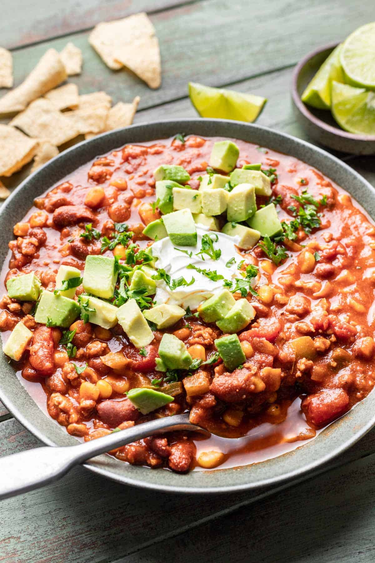
M371 455L117 563L372 563L374 494Z

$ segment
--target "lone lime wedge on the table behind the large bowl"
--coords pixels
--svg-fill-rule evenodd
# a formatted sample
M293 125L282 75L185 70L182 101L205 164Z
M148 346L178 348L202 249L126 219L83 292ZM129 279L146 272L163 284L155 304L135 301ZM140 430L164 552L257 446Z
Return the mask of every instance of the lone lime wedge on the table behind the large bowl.
M189 96L201 117L246 122L254 121L267 101L261 96L212 88L197 82L189 82Z

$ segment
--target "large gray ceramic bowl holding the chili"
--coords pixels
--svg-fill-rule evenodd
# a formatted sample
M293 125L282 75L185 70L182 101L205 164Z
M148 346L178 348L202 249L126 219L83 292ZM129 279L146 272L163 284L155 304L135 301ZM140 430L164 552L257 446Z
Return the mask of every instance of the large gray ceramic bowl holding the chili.
M268 147L304 160L346 188L368 213L375 218L375 191L353 169L325 151L304 141L274 132L265 127L215 119L180 119L135 125L85 141L51 160L25 180L4 203L0 212L0 257L8 252L13 238L12 226L33 204L35 197L55 182L73 172L97 155L107 153L128 142L137 143L166 138L176 133L202 136L234 137ZM48 445L71 445L76 441L65 428L49 418L30 397L17 379L6 357L0 355L0 399L30 432ZM149 489L183 493L224 493L243 489L259 489L296 479L327 462L353 445L375 423L375 394L371 394L351 412L333 423L319 436L293 452L263 463L236 469L193 471L177 475L168 470L151 470L101 455L85 463L85 467L119 482Z

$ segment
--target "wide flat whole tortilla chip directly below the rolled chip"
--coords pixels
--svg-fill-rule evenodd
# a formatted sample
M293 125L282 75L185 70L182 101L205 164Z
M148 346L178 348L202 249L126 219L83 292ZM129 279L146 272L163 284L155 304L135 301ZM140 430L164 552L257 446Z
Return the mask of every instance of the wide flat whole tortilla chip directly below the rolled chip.
M30 137L46 139L53 145L60 146L79 135L78 128L66 115L58 111L51 101L40 98L31 102L10 124L19 127Z

